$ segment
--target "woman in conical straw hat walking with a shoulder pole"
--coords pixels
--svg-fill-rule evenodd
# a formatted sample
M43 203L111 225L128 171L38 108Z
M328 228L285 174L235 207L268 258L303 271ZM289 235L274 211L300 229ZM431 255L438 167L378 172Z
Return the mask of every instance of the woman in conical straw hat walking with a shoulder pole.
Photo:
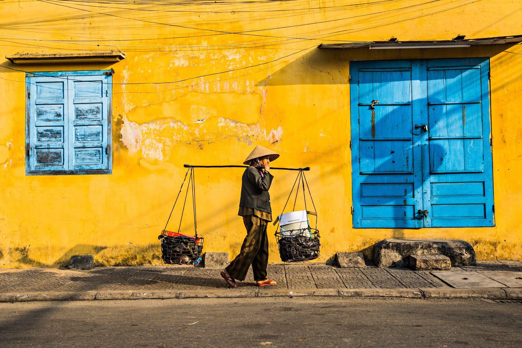
M232 287L238 287L235 280L245 280L250 265L257 286L277 284L268 279L266 273L268 264L266 228L272 221L268 190L274 176L270 173L270 162L278 157L279 154L257 145L243 163L249 167L243 173L238 215L243 216L246 237L239 255L221 272L221 276Z

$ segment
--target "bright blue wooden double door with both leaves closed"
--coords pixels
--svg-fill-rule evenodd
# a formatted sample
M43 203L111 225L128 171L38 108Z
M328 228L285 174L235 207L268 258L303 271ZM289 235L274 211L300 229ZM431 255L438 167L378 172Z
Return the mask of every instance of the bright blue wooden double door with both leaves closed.
M494 226L489 60L350 64L354 227Z

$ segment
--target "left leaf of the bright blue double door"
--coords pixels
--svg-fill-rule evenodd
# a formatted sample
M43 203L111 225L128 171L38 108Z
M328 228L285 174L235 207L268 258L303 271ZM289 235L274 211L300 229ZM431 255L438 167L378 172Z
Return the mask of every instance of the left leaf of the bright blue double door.
M421 185L414 176L411 62L357 62L352 70L353 224L421 227ZM420 153L420 149L417 150ZM420 169L420 166L418 167Z

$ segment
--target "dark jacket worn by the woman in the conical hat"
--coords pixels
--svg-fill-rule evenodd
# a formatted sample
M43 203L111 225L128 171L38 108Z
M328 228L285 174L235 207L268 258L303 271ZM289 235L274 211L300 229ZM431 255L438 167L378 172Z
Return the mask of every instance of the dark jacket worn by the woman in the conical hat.
M272 179L274 179L274 176L270 172L266 172L265 176L262 177L256 167L246 168L242 178L239 206L271 213L268 189L270 189Z

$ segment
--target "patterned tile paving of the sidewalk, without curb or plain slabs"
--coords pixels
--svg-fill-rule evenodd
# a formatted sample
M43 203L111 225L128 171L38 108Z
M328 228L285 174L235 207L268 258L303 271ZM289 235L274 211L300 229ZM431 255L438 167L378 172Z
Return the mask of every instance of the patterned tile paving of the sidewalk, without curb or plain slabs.
M454 267L454 271L522 271L519 261L484 261L478 266ZM445 287L429 272L408 269L341 269L321 263L269 264L268 277L278 282L265 289L300 288L416 288ZM220 270L193 266L104 267L91 271L64 269L4 270L0 292L160 290L227 288ZM249 269L240 288L255 288Z

